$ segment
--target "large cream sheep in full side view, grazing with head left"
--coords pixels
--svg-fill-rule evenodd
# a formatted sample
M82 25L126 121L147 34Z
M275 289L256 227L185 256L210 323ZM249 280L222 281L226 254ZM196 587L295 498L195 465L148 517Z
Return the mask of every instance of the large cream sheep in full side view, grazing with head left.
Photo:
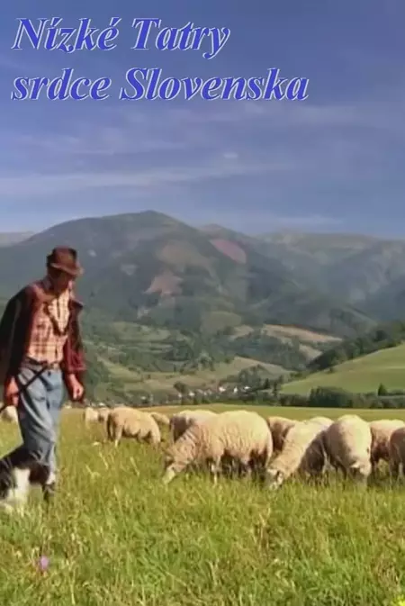
M273 454L273 439L265 419L257 412L231 411L208 415L192 423L166 453L164 484L194 462L208 463L217 484L224 457L237 461L249 475L266 468Z

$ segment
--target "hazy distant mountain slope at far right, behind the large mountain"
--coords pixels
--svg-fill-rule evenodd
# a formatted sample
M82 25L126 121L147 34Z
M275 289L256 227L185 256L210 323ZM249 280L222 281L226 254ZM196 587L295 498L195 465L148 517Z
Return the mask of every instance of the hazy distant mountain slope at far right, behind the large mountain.
M329 296L381 321L404 317L405 240L334 233L273 233L261 240Z

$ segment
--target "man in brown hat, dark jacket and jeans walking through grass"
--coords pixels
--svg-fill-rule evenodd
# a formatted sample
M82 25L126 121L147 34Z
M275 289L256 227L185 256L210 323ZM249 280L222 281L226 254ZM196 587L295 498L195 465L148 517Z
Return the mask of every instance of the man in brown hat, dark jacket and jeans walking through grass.
M73 285L83 273L75 249L53 249L47 275L7 303L0 321L0 381L4 404L17 407L23 445L0 459L0 502L11 511L40 484L46 501L56 487L56 442L63 386L84 396L85 372Z

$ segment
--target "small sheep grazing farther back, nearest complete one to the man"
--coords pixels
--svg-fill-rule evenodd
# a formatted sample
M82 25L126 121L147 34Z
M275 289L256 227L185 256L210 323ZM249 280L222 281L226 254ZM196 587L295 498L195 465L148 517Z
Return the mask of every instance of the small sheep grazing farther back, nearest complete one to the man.
M108 415L107 437L118 446L122 437L135 438L151 444L159 444L161 441L160 430L157 422L148 412L142 412L134 408L115 408Z

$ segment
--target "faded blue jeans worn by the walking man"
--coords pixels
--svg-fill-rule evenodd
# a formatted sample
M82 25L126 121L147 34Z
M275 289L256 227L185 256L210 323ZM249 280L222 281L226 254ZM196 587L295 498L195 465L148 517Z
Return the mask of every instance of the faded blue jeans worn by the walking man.
M14 466L35 461L48 469L47 482L50 484L57 474L56 444L63 402L63 378L60 370L47 369L38 375L39 372L40 365L30 363L23 366L17 377L21 389L17 412L23 445L5 456L0 461L0 468L11 471Z

